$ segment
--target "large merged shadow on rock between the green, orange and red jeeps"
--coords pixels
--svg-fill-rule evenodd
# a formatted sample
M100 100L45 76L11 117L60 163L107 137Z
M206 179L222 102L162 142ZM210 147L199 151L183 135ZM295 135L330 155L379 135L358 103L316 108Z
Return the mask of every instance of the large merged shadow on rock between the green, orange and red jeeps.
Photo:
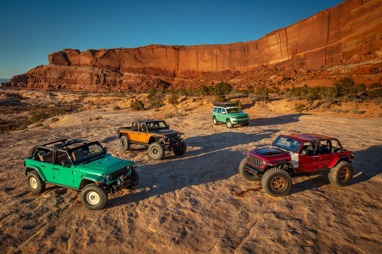
M109 196L106 208L139 202L152 196L180 190L188 186L216 182L238 174L237 168L243 159L246 145L264 138L270 138L278 130L260 132L222 132L206 136L186 138L192 150L183 156L167 154L155 164L143 164L137 167L140 191L126 193L112 198ZM203 145L201 145L203 144ZM263 146L260 144L259 146ZM168 152L167 152L168 153ZM243 179L244 180L244 179Z

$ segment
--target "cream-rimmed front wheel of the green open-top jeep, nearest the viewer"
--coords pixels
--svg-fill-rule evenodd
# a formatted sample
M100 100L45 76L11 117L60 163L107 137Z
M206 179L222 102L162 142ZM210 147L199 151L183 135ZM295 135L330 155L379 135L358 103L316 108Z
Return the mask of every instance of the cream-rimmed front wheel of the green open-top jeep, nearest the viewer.
M107 192L104 187L95 183L86 185L81 190L81 203L90 210L100 210L107 202Z

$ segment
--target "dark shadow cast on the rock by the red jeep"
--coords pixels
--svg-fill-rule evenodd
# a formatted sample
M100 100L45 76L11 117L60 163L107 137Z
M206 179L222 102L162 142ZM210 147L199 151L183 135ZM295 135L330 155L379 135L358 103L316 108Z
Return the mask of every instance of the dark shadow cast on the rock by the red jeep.
M382 171L380 169L380 165L382 165L382 157L379 156L381 150L382 145L375 145L365 150L353 151L356 154L352 162L355 176L351 180L349 186L366 182L367 180L381 174ZM307 180L292 185L291 191L288 195L319 188L327 184L330 184L327 175L309 177Z

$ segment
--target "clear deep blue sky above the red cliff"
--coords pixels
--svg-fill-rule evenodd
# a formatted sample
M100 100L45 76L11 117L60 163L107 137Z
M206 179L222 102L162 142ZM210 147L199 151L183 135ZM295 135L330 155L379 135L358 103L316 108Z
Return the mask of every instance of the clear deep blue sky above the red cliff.
M0 78L49 64L64 48L134 48L257 40L341 0L42 1L0 3Z

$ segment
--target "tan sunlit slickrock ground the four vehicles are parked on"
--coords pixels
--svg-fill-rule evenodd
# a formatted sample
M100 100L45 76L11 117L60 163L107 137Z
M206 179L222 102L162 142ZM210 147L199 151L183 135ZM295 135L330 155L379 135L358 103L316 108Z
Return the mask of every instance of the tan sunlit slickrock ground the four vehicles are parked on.
M380 252L382 118L296 113L277 103L246 105L251 124L233 129L212 124L212 104L189 103L184 116L166 120L185 133L188 150L167 152L161 161L142 146L122 151L116 134L134 120L162 118L168 108L110 106L48 119L49 129L0 134L0 252ZM259 182L241 177L243 152L303 132L337 137L356 153L351 185L336 187L326 175L299 177L287 196L271 198ZM113 156L135 161L139 186L109 195L100 211L87 210L76 190L47 185L32 194L24 158L33 146L63 137L98 140Z

